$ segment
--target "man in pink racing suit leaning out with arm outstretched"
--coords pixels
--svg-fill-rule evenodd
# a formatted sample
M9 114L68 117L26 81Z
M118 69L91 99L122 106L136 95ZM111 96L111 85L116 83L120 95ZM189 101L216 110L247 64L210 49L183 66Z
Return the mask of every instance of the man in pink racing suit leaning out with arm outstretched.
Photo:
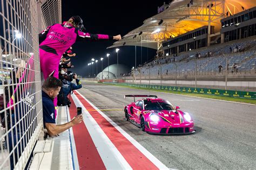
M54 24L39 34L39 55L41 71L44 80L49 75L58 78L59 61L62 54L76 41L81 40L120 40L121 36L90 34L82 32L83 20L79 16L72 16L64 24ZM57 105L57 97L53 101Z

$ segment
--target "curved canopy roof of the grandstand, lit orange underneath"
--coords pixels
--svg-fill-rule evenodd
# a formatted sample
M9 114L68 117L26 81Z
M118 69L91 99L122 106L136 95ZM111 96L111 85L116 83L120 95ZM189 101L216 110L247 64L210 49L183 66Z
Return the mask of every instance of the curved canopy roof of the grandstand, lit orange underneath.
M256 1L247 0L174 0L165 11L144 20L142 26L107 48L143 46L159 49L162 41L208 25L208 20L215 32L219 32L220 19L255 5Z

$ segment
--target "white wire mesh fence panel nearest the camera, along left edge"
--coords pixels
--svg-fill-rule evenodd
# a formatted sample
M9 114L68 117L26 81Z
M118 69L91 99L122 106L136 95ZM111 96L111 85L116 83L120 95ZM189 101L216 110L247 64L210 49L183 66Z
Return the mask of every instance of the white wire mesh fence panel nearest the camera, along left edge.
M36 1L1 1L0 52L0 169L24 169L43 128Z

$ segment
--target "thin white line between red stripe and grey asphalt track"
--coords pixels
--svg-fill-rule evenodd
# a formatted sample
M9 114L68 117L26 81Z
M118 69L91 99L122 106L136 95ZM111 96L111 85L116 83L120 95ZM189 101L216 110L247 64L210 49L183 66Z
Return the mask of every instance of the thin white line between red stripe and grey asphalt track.
M77 91L77 90L76 90ZM86 100L89 104L91 104L91 106L96 109L99 110L95 105L93 105L89 100L87 100L87 98L85 98L82 94L80 94L78 91L77 93L79 95L81 95L84 100ZM111 123L114 128L116 128L120 133L123 134L123 136L128 139L136 148L138 148L138 150L140 152L142 152L145 157L147 157L147 159L149 159L154 165L156 165L159 169L169 169L167 168L162 162L160 162L156 157L154 157L153 154L151 154L149 151L147 151L142 145L140 145L138 143L138 141L136 141L135 139L133 139L128 133L126 133L122 128L120 128L116 123L114 123L109 117L107 117L102 111L98 111L100 115L102 115L107 121L109 121L109 123Z

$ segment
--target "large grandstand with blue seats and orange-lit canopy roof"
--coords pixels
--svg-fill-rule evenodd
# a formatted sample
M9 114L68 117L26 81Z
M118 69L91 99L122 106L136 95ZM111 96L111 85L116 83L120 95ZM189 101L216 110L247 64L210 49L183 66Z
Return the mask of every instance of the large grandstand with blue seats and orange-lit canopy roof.
M135 80L143 79L139 82L152 79L156 84L173 85L170 80L179 79L179 86L188 86L182 81L197 84L211 79L221 84L228 77L237 84L253 84L230 89L255 90L255 5L253 1L172 1L109 48L141 45L157 50L153 61L137 67ZM133 82L134 77L123 79Z

